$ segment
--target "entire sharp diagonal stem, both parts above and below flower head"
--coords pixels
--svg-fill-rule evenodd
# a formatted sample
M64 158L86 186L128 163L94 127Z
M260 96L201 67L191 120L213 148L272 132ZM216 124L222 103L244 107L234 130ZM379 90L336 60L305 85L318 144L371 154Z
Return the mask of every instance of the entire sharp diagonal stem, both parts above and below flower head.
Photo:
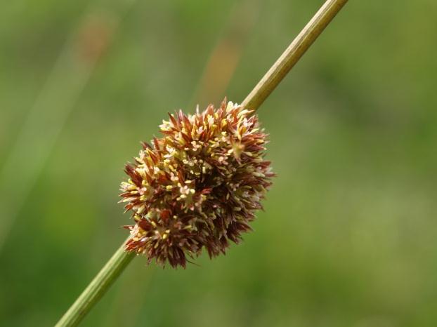
M325 2L322 8L294 39L292 44L289 45L287 50L282 53L266 75L263 76L259 84L247 95L247 98L242 102L244 107L258 109L346 2L347 0L327 0ZM77 326L123 272L124 268L129 265L134 256L133 253L126 253L124 251L123 243L123 246L112 255L112 258L106 263L105 267L100 270L89 286L77 298L76 302L73 303L72 307L68 309L56 324L56 327Z

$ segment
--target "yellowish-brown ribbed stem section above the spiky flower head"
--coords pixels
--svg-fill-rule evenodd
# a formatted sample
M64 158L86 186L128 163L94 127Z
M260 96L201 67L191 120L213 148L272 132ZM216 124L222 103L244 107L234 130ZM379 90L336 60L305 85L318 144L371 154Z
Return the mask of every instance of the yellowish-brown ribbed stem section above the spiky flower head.
M243 107L256 110L268 98L268 95L280 84L280 81L296 65L302 55L313 44L323 29L331 22L348 0L327 0L313 18L302 29L292 44L276 60L261 81L242 102Z

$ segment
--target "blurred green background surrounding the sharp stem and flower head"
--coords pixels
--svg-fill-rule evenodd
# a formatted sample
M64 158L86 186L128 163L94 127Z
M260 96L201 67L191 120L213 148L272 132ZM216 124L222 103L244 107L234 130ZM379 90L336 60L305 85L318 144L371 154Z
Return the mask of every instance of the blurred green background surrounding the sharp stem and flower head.
M0 11L0 325L51 326L126 237L167 112L240 102L322 4L15 0ZM437 326L437 2L349 1L259 109L255 232L136 258L83 326Z

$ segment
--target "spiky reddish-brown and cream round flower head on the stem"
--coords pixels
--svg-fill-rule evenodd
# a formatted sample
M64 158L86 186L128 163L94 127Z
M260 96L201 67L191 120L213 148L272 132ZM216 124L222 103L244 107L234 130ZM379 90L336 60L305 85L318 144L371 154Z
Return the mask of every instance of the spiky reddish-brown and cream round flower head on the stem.
M273 177L252 113L226 99L218 109L179 111L159 126L162 138L143 142L121 185L135 221L126 251L185 267L202 248L214 257L242 239Z

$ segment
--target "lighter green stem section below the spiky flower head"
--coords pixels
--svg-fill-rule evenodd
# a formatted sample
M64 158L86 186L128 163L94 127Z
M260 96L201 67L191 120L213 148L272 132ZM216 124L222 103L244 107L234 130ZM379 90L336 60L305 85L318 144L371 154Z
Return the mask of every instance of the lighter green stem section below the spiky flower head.
M89 286L81 293L76 302L65 312L56 327L77 326L91 308L102 298L112 283L122 274L124 268L135 257L134 253L124 251L124 243L115 251L112 258L100 270Z

